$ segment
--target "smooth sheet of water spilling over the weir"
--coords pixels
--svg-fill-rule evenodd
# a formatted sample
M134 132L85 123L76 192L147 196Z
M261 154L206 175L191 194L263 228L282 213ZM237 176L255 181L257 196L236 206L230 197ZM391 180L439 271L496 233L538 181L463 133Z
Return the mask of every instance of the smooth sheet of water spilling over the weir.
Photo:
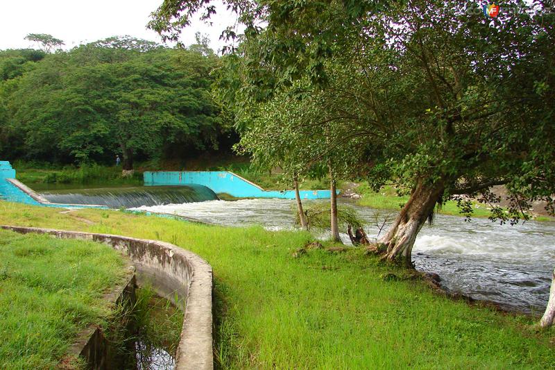
M151 207L218 199L216 193L203 185L48 190L41 195L52 203L96 204L109 208Z

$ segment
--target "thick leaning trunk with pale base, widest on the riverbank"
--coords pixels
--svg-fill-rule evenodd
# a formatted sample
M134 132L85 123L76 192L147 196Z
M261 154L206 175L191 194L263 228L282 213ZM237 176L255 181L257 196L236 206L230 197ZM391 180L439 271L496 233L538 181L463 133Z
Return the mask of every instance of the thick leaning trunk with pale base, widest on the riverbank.
M443 195L443 183L433 185L419 181L411 193L407 204L404 205L395 222L379 243L386 246L384 258L387 260L402 260L407 267L413 267L411 255L416 235L431 217L437 201Z

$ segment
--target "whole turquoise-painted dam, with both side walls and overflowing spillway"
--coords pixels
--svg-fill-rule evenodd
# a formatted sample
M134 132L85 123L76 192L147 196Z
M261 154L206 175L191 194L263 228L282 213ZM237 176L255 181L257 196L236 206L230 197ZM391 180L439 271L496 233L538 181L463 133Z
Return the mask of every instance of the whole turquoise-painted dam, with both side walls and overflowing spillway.
M48 190L37 194L16 179L8 161L0 161L0 199L47 207L137 208L237 198L295 199L293 190L264 190L228 171L147 171L144 187ZM301 199L329 199L329 190L302 190Z

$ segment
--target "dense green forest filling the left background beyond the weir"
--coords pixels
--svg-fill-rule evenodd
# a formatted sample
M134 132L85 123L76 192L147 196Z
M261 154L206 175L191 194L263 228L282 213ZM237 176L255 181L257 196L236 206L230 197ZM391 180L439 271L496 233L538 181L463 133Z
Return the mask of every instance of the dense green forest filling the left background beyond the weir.
M110 37L70 51L40 36L31 35L42 50L0 51L1 158L80 165L120 155L130 170L236 140L212 99L219 58L200 35L186 49Z

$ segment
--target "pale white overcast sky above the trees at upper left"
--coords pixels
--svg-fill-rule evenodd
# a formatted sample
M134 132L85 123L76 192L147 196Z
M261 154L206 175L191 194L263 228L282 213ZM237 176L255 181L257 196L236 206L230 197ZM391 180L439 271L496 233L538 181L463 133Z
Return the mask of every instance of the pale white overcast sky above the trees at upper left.
M160 36L147 30L151 12L162 0L0 0L0 49L33 47L24 40L28 33L48 33L64 40L64 49L114 35L131 35L161 42ZM196 31L210 37L212 49L223 46L221 31L234 24L234 16L218 7L212 26L196 20L182 31L182 42L194 42Z

